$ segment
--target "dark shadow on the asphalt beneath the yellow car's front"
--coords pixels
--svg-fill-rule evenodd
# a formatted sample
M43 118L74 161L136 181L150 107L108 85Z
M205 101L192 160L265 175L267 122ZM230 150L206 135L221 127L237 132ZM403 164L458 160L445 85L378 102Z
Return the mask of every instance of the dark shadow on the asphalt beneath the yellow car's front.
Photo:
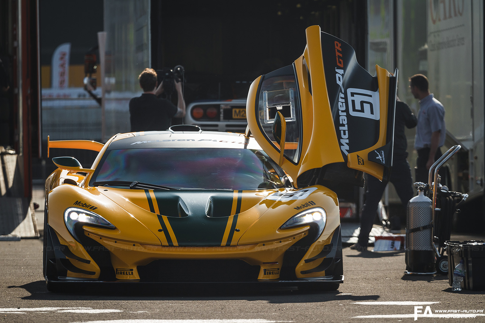
M356 296L339 291L303 292L297 288L201 288L185 285L185 288L156 288L159 285L110 284L109 287L101 284L76 284L66 287L60 292L49 292L43 280L37 280L21 286L8 286L8 288L22 288L29 292L24 296L26 300L71 300L84 301L86 296L93 300L266 300L269 303L300 303L322 302L339 300L375 301L379 295Z

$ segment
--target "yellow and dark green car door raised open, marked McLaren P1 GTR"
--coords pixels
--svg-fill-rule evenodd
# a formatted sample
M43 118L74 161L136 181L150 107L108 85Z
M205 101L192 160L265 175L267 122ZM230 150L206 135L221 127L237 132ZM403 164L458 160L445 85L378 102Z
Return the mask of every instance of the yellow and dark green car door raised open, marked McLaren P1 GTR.
M372 77L357 63L352 46L319 26L308 27L306 34L301 57L252 83L246 105L250 132L278 162L280 142L273 125L283 123L275 127L286 132L276 136L285 138L281 166L297 187L326 176L351 182L342 177L355 176L355 171L341 171L342 166L387 179L397 70L390 75L376 65ZM278 112L282 118L276 117Z

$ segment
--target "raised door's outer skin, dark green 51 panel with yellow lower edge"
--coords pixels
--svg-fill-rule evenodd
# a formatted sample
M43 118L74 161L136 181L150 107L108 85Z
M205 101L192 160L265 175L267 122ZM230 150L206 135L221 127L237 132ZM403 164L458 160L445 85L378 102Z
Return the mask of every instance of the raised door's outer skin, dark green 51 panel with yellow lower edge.
M386 181L392 167L398 70L390 74L375 65L372 77L357 63L352 46L324 32L321 41L325 86L344 163ZM357 174L330 164L321 178L335 180L338 175L341 181L342 171L351 182Z

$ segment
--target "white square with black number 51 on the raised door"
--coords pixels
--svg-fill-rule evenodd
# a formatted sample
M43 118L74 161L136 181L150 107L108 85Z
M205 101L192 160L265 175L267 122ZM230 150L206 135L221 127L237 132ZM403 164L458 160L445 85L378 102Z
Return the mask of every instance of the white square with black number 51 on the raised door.
M380 119L379 90L347 89L349 113L354 117Z

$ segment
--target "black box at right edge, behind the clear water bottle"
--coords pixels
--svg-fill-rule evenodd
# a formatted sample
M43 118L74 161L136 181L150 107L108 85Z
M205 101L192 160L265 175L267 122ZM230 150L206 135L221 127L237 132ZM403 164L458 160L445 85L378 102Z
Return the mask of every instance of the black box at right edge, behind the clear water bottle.
M448 255L448 282L453 286L454 267L463 260L465 278L462 288L470 291L485 290L485 244L483 240L446 241Z

